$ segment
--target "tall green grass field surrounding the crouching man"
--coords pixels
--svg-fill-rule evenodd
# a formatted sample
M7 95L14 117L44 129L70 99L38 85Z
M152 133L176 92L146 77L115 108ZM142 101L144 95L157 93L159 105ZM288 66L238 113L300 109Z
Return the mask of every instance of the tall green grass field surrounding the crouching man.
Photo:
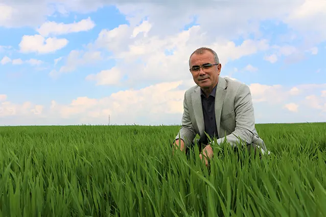
M270 156L215 149L178 126L0 127L2 216L326 216L326 124L257 125Z

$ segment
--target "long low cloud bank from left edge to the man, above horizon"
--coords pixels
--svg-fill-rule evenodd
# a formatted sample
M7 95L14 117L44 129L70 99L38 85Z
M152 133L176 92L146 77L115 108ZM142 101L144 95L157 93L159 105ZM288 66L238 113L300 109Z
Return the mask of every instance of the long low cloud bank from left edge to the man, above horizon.
M182 113L184 90L177 89L181 83L181 81L160 83L139 90L119 91L102 99L79 97L68 105L52 101L48 108L31 102L19 105L7 101L0 103L0 108L2 108L0 116L33 117L33 114L41 114L41 117L51 116L54 119L77 117L79 123L91 119L103 123L110 114L112 123L119 124L124 124L124 122L144 124L144 117L150 116L152 124L159 124L162 114L180 115ZM34 121L37 121L35 118Z

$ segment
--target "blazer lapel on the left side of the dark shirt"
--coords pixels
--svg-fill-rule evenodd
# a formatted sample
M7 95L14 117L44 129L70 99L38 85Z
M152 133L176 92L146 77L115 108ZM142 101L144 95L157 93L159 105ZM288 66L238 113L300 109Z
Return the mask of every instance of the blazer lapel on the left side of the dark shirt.
M200 87L197 87L195 91L192 93L192 103L193 103L193 109L194 109L194 114L199 130L199 135L200 137L203 136L204 134L204 115L203 115L203 108L201 105L201 97L200 97Z

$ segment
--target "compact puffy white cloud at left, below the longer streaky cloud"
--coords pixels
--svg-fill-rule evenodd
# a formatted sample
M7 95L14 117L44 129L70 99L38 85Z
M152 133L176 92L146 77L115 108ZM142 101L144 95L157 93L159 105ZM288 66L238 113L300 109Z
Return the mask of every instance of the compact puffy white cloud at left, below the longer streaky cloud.
M52 53L62 49L68 44L65 38L44 38L41 35L24 35L19 43L20 52L22 53Z

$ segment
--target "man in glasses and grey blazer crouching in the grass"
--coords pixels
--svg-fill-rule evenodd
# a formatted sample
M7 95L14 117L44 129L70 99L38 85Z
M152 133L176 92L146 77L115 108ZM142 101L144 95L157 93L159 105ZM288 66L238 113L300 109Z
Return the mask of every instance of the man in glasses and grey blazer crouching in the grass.
M219 77L222 65L217 54L207 47L193 52L189 59L190 71L196 86L184 94L182 127L175 138L174 146L181 151L192 148L196 134L198 143L207 144L200 158L213 157L213 149L205 135L216 137L221 144L224 139L233 147L240 139L248 147L266 151L264 141L254 127L254 111L251 93L247 85ZM225 137L226 135L226 137ZM203 156L202 156L203 155ZM207 159L206 159L207 158Z

